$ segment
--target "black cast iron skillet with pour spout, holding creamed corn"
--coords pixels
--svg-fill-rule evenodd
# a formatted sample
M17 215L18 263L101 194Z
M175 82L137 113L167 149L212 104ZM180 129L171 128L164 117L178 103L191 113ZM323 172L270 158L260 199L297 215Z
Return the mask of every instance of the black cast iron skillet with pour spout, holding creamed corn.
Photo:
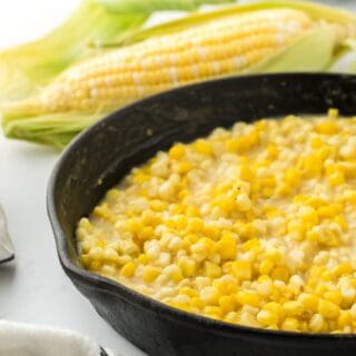
M83 270L76 251L78 219L159 149L237 120L317 115L330 107L356 115L356 77L227 78L165 92L110 115L70 145L49 182L48 212L65 271L118 333L152 356L355 355L356 335L255 329L176 310Z

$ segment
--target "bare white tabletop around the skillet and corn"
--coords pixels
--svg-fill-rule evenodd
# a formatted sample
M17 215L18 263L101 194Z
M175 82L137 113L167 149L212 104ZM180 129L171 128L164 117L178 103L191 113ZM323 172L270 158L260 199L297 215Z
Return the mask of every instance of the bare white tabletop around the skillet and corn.
M1 1L0 48L37 38L78 2ZM348 4L356 8L354 1ZM144 355L96 314L58 263L46 214L46 187L57 158L56 150L0 134L0 202L17 253L14 264L0 268L0 318L76 329L122 356Z

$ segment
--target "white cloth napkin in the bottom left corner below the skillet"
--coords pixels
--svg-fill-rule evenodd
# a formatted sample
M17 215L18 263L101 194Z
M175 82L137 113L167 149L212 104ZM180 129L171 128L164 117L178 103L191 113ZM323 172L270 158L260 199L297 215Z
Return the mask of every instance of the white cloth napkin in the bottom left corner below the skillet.
M77 332L0 320L0 356L63 355L100 356L100 346Z

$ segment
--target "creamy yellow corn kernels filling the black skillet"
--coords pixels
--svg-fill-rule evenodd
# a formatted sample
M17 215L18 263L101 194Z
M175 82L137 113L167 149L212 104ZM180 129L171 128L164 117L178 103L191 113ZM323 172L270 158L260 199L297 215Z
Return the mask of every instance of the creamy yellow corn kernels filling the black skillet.
M356 333L356 118L175 144L78 224L82 266L228 323Z

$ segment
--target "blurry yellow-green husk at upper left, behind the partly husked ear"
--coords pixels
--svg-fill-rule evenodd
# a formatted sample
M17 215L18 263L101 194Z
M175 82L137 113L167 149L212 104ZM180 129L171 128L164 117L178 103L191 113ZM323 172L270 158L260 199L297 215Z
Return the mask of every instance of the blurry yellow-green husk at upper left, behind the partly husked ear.
M194 10L233 0L82 0L59 28L38 41L0 52L0 101L33 95L73 62L96 55L91 46L141 28L157 10Z

